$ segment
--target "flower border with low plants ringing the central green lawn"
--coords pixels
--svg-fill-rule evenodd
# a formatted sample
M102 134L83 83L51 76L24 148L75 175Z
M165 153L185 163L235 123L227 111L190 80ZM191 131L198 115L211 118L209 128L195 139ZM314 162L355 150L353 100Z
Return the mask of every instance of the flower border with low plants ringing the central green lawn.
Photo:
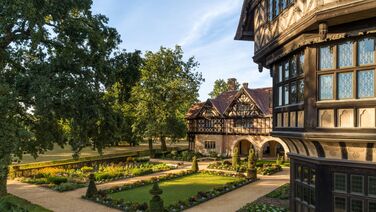
M190 196L186 199L179 200L177 203L171 205L165 205L165 209L167 211L182 211L187 208L193 207L198 205L202 202L208 201L212 198L215 198L219 195L237 189L241 186L244 186L248 183L253 182L253 180L245 178L242 174L231 174L231 173L224 173L224 172L215 172L215 171L202 171L199 173L193 173L192 171L184 171L178 174L169 174L166 176L162 176L159 178L152 178L147 181L138 181L133 184L124 185L121 187L116 187L108 190L102 190L98 192L98 195L91 198L90 200L98 202L100 204L104 204L108 207L120 209L123 211L146 211L148 208L148 203L145 202L125 202L123 199L115 199L111 198L111 195L114 195L119 192L127 191L130 189L137 189L139 187L151 185L154 182L164 183L173 180L178 180L179 178L184 178L187 176L194 176L197 174L207 174L212 176L223 176L223 177L232 177L234 178L233 181L226 183L222 186L215 187L208 191L200 191L197 192L195 195ZM134 191L132 191L134 192ZM136 195L132 193L132 195ZM149 194L148 194L149 195ZM176 194L175 194L176 195ZM145 196L145 195L143 195ZM148 197L148 196L147 196ZM151 198L151 196L150 196ZM148 198L147 198L148 199ZM163 199L163 198L162 198Z

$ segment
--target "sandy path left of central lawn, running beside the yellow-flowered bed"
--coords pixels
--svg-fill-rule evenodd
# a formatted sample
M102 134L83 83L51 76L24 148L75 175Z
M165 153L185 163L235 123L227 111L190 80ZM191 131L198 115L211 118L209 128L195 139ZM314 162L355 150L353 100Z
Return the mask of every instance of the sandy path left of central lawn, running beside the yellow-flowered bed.
M166 161L164 161L166 162ZM177 163L176 161L169 161L166 163ZM127 183L133 183L139 180L147 180L152 177L158 177L162 175L166 175L168 173L176 173L181 172L183 170L187 170L190 168L191 163L184 163L184 166L179 169L174 169L170 171L158 172L153 173L146 176L134 177L124 180L113 181L109 183L104 183L101 185L97 185L98 189L107 189L114 186L121 186ZM200 169L205 169L208 163L200 163ZM43 206L47 209L50 209L55 212L112 212L118 211L115 209L111 209L100 204L84 200L81 198L82 195L85 195L87 188L81 188L74 191L69 192L56 192L50 190L48 188L43 188L37 185L22 183L15 180L8 181L8 192L16 195L18 197L24 198L34 204L38 204Z

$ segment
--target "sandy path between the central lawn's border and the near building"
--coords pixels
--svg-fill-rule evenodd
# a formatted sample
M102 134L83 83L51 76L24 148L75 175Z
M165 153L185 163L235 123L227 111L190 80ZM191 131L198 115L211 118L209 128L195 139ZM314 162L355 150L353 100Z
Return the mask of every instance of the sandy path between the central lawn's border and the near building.
M289 183L290 169L283 168L283 171L270 176L259 176L260 180L221 195L217 198L202 203L186 212L234 212L262 197L283 184Z

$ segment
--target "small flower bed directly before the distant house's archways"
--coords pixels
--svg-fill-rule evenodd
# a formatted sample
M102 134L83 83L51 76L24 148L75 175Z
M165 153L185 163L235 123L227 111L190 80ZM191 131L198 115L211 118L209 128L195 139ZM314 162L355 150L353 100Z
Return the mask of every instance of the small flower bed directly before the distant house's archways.
M282 171L280 165L275 164L274 161L257 161L256 163L257 173L261 175L272 175L279 171ZM226 171L236 171L236 172L246 172L247 170L247 161L240 161L239 165L234 168L230 161L218 161L216 163L209 164L209 169L219 169Z

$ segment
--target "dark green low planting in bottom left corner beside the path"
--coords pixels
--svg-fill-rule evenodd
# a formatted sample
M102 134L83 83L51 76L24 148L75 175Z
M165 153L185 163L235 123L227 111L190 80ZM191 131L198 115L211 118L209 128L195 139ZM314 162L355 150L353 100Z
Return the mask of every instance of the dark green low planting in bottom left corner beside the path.
M50 212L39 205L10 194L0 199L0 211Z

